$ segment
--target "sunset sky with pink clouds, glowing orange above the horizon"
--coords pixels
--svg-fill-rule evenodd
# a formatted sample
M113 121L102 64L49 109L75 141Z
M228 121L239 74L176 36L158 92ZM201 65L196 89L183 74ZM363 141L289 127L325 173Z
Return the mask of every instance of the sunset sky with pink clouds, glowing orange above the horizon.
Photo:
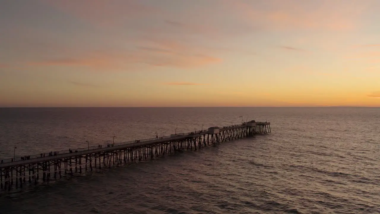
M380 107L378 0L0 2L0 107Z

